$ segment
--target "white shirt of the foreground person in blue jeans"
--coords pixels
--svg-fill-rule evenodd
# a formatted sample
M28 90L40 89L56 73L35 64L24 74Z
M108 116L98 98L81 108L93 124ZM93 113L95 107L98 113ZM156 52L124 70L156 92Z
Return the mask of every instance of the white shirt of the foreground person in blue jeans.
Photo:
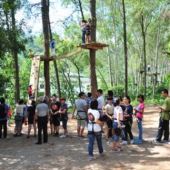
M92 113L93 116L94 116L94 119L99 119L100 117L100 113L98 110L93 110L93 109L89 109L88 110L88 114L89 113ZM92 124L91 123L92 121L89 120L89 123L88 123L88 131L92 131L92 128L93 128L93 131L94 132L100 132L101 131L101 126L97 123L95 124ZM93 127L92 127L93 126Z

